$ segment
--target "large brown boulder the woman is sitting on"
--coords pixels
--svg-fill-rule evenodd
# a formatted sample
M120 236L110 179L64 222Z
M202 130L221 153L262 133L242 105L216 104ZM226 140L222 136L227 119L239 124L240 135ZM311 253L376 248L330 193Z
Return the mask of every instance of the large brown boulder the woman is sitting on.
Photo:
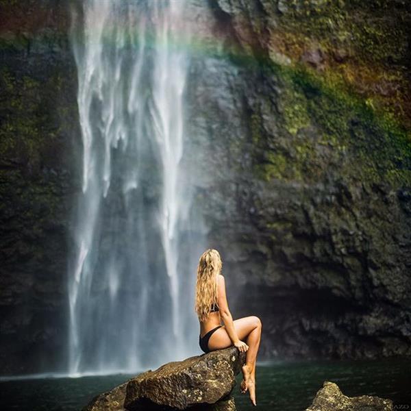
M244 363L236 347L169 362L97 395L83 411L234 411L231 393Z

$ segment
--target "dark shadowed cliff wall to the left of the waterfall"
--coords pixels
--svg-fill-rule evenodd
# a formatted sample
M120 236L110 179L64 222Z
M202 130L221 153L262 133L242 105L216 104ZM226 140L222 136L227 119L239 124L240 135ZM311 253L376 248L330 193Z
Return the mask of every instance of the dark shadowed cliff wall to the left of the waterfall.
M1 374L62 364L77 191L77 73L65 2L0 1Z

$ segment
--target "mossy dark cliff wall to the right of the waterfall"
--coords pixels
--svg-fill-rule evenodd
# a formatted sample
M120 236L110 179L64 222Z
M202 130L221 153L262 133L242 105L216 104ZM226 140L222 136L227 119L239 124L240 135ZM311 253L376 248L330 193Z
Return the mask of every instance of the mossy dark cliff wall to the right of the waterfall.
M410 355L408 2L208 4L189 118L234 313L267 356Z

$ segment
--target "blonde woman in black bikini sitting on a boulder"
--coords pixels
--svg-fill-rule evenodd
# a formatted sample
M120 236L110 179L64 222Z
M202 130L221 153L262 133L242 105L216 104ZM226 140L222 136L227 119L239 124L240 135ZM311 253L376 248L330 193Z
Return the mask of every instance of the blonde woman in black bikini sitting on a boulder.
M197 266L195 312L200 321L199 344L205 353L232 345L247 352L242 366L241 393L248 390L251 402L256 406L256 360L262 323L257 316L233 321L225 295L222 266L219 251L215 249L206 250ZM224 325L221 325L221 319Z

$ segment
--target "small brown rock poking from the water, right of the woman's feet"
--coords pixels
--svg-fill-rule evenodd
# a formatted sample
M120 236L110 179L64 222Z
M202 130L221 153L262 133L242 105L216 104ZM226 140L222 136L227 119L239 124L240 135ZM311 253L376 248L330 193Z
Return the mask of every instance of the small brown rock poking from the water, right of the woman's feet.
M334 382L325 381L306 411L393 411L393 401L379 397L347 397Z

